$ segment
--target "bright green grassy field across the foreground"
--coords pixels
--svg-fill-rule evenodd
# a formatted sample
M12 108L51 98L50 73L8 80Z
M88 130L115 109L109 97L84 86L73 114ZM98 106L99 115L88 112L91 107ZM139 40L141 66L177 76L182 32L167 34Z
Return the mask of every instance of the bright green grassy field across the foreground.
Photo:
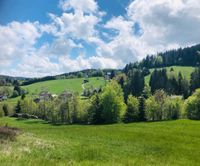
M0 144L1 165L186 165L200 163L200 121L53 126L0 119L22 129Z

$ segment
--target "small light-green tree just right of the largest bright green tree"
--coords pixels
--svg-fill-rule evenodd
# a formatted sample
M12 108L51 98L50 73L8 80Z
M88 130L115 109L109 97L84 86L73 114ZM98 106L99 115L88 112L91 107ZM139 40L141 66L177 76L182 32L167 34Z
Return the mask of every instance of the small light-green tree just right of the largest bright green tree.
M126 113L124 115L124 122L137 122L140 120L139 115L139 101L136 97L129 95L127 100Z

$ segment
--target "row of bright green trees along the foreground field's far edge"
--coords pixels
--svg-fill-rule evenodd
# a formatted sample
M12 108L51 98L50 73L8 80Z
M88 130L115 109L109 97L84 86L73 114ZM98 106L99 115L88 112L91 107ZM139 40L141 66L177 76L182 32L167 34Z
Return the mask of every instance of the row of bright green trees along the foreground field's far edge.
M144 91L143 91L144 92ZM0 116L14 115L21 118L40 118L53 124L112 124L140 121L200 119L200 89L184 100L169 96L164 90L153 95L133 96L125 100L123 89L116 80L109 82L102 92L87 100L78 94L63 92L52 100L36 103L22 96L14 111L7 104L0 107Z

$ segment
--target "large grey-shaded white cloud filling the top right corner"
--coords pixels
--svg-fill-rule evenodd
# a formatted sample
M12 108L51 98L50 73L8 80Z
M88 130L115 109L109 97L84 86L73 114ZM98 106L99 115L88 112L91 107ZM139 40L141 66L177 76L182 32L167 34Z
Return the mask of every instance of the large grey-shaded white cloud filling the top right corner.
M159 51L200 42L199 10L198 0L135 0L127 12L143 29L140 40Z

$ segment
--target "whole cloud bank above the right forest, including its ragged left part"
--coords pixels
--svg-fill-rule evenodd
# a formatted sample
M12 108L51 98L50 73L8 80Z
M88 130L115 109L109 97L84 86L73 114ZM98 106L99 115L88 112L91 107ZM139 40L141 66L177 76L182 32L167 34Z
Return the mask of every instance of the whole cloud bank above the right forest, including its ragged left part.
M199 43L199 11L198 0L135 0L126 16L113 17L104 25L118 34L99 44L97 53L121 60L118 67L123 67L147 54ZM141 29L134 29L135 24Z

